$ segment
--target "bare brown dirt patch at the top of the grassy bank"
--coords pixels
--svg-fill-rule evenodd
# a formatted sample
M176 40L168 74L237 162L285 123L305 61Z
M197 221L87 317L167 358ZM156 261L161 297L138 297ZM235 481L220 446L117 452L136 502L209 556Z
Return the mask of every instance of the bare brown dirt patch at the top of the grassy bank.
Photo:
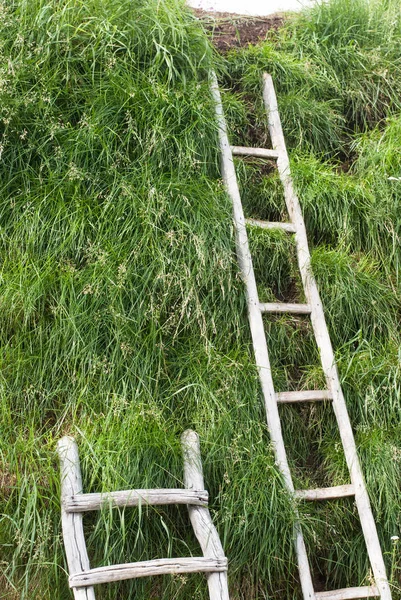
M276 30L284 22L283 14L268 17L246 17L230 13L206 12L193 9L206 30L211 32L213 44L219 52L256 44L266 39L267 32Z

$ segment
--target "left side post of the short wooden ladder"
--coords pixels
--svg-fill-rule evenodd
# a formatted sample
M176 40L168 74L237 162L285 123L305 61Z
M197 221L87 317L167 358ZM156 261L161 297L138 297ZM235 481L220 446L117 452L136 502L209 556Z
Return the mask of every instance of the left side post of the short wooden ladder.
M81 468L75 440L65 436L57 444L61 471L61 523L68 571L70 574L90 569L82 524L82 515L68 513L64 500L82 492ZM95 600L93 587L74 589L75 600Z

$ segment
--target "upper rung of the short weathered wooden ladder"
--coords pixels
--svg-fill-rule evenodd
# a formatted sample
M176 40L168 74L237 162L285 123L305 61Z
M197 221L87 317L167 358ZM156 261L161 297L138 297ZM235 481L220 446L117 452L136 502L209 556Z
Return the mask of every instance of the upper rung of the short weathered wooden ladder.
M67 512L89 512L103 506L139 506L164 504L192 504L207 506L209 495L205 490L121 490L118 492L75 494L67 496L64 508Z

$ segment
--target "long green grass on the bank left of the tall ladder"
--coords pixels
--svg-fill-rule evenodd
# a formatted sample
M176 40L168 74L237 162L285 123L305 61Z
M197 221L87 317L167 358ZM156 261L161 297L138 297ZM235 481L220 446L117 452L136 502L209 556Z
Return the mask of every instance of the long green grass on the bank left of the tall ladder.
M10 2L0 40L1 596L70 598L61 435L87 491L174 487L187 427L234 588L290 587L200 25L175 0ZM93 565L199 553L185 507L85 523ZM177 577L97 593L205 591Z

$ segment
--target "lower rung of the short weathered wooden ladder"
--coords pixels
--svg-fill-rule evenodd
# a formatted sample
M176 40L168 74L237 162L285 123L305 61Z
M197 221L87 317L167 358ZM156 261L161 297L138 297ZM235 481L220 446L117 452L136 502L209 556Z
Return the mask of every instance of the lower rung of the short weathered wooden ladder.
M227 571L226 558L158 558L125 565L98 567L70 575L71 588L88 587L138 577L176 575L181 573L220 573Z

